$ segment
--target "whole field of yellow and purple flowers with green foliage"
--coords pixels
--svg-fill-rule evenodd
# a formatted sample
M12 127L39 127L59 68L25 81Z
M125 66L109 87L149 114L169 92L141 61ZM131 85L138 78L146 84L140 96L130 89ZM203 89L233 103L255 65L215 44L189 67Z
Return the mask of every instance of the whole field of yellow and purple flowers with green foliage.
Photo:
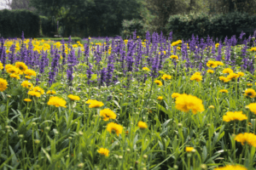
M0 169L256 168L254 37L3 39Z

